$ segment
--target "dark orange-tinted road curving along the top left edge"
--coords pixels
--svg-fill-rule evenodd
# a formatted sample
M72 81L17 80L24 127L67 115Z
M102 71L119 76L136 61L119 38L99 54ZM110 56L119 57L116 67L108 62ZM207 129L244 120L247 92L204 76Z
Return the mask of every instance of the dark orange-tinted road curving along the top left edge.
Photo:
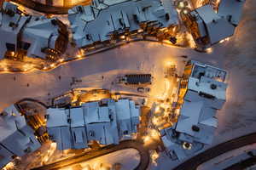
M67 14L68 9L72 8L72 7L55 7L55 6L50 6L43 3L34 2L32 0L10 0L10 1L14 3L19 3L20 5L23 5L26 8L31 8L33 10L36 10L44 14ZM90 4L90 1L86 1L82 4L88 5Z

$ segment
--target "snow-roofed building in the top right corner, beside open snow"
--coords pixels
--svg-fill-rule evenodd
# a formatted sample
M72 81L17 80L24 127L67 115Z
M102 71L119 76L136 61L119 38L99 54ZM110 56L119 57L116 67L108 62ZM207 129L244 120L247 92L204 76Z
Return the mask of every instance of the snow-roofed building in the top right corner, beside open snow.
M183 14L185 26L198 48L209 48L231 37L239 23L244 2L245 0L222 0L218 4L218 12L207 4Z

